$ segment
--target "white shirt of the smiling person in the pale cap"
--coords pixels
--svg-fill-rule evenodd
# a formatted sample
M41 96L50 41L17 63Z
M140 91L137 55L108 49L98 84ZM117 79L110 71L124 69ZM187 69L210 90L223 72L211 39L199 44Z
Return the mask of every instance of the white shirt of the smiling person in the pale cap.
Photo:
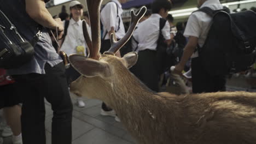
M65 26L65 21L63 23ZM89 34L91 34L91 28L89 27L89 25L87 25L87 27L88 27ZM61 50L65 51L69 56L73 53L77 53L77 49L76 49L77 46L83 46L84 53L86 55L86 43L85 43L84 34L83 34L82 20L79 20L78 22L76 22L73 19L71 19L69 21L69 25L67 28L67 35L64 43L61 46Z

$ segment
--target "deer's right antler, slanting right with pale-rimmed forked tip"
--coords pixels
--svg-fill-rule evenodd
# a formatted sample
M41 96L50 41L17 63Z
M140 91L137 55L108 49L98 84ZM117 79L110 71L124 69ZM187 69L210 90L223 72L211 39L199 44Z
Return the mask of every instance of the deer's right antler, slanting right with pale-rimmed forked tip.
M117 53L119 51L119 49L121 49L121 47L123 47L127 43L127 41L131 38L132 33L134 32L135 27L138 24L138 21L144 16L146 11L147 11L147 8L142 7L141 10L139 10L139 13L137 15L135 15L134 11L131 10L131 22L130 22L130 27L129 27L127 33L119 41L115 41L114 35L111 34L111 39L110 39L111 47L108 50L108 52Z

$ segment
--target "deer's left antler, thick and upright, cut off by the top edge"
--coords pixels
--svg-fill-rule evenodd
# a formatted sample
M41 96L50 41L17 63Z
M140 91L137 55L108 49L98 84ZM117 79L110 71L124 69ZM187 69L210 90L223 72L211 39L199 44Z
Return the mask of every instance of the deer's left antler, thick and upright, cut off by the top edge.
M90 58L99 59L101 46L101 33L100 33L100 6L102 0L87 0L88 13L91 23L91 40L89 37L88 29L86 23L83 21L83 32L84 38L90 50Z

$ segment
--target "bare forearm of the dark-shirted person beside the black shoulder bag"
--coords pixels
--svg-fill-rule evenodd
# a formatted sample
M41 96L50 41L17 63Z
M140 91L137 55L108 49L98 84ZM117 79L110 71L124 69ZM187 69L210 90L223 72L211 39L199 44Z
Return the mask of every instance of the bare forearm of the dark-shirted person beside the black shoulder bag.
M53 19L49 11L45 8L44 0L26 0L27 14L40 25L63 31L64 27L60 19Z

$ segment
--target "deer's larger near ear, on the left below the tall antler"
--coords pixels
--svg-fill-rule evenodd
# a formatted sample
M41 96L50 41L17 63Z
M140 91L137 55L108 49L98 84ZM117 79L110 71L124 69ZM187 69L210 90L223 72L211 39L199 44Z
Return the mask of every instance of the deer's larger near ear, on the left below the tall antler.
M111 75L109 65L106 62L80 55L70 55L68 59L74 69L86 77L108 77Z

